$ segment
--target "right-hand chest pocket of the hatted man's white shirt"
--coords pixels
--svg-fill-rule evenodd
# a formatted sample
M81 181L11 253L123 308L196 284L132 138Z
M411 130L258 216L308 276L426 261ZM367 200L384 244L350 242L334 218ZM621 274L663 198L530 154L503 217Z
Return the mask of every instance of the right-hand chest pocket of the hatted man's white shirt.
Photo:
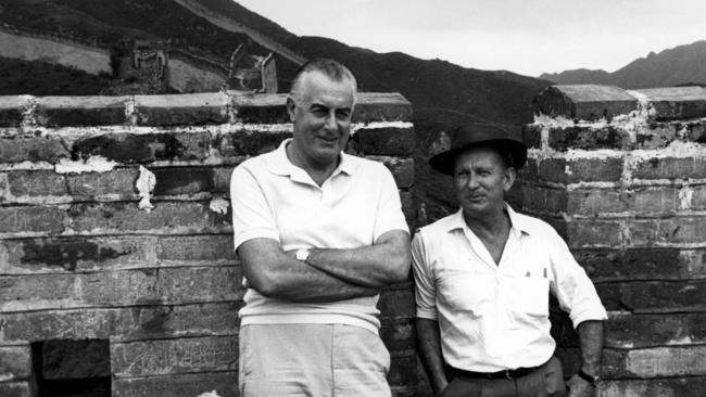
M544 277L508 277L512 309L533 317L550 315L550 280Z

